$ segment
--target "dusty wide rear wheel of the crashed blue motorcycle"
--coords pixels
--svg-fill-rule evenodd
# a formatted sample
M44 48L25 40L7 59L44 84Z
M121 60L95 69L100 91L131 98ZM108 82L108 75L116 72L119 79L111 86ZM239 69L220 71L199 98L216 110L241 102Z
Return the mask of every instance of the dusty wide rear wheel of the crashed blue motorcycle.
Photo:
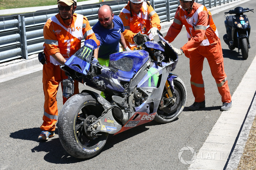
M63 105L58 119L58 133L62 146L72 156L91 158L105 145L108 133L91 136L90 124L101 116L101 104L88 93L73 95Z

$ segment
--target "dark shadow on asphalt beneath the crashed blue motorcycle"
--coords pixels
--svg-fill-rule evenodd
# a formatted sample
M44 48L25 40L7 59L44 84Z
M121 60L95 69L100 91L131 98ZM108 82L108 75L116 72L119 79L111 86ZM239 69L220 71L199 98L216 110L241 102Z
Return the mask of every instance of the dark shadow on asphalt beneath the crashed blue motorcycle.
M178 118L175 119L174 121L177 121L177 120ZM160 124L162 123L152 121L146 124L142 124L138 127L134 127L132 129L126 130L114 136L109 135L105 146L103 147L103 149L100 151L99 154L101 154L102 152L108 149L111 149L115 144L118 144L119 142L122 142L130 137L136 136L140 133L147 131L149 128L147 128L146 126L155 126ZM30 141L38 142L39 145L32 148L31 152L32 153L46 152L46 155L44 156L44 160L54 164L69 164L69 163L82 162L82 161L90 160L98 155L97 154L94 157L89 159L78 159L78 158L72 157L62 147L60 143L60 139L58 137L55 136L56 138L55 137L49 138L49 140L47 141L38 140L37 137L40 134L40 132L41 132L40 128L22 129L22 130L18 130L16 132L11 133L10 137L14 139L30 140ZM58 134L57 128L55 130L55 134Z

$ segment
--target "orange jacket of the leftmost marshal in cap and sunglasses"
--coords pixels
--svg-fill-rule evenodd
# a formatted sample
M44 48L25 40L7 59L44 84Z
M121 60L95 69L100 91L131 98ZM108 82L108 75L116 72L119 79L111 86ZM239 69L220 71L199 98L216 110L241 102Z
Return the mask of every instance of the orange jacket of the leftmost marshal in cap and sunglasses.
M86 17L80 14L73 14L70 28L66 26L57 14L47 20L44 25L44 53L46 60L59 65L51 55L60 53L65 59L68 59L79 48L81 48L82 39L93 39L97 45L100 41L96 39L94 32Z

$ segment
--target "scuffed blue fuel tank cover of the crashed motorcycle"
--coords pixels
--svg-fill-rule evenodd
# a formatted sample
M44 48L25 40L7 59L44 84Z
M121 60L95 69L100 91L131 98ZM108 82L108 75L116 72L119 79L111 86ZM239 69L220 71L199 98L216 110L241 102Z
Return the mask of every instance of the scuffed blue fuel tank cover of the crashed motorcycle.
M109 56L109 67L117 69L115 74L119 77L132 78L148 61L148 55L148 52L144 50L114 53ZM113 64L113 61L118 61L121 64Z

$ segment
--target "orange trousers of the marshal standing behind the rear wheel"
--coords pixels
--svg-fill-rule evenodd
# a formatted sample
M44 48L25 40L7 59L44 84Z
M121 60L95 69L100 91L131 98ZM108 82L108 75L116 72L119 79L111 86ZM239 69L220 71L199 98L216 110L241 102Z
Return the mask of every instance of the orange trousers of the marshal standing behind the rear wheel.
M42 130L54 131L55 123L58 120L57 107L57 91L61 82L61 89L63 92L62 80L68 78L65 72L60 69L59 65L54 65L50 62L43 66L43 88L44 88L44 116L43 124L40 127ZM79 93L78 82L74 82L74 94ZM63 96L62 96L63 97ZM67 101L63 97L63 104Z

